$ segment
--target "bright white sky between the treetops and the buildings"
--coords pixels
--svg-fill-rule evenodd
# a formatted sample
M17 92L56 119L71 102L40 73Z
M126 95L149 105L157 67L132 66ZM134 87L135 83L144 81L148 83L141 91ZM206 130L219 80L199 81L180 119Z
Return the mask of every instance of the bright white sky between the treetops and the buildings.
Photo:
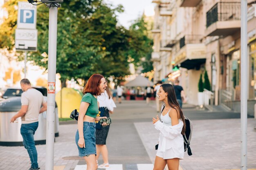
M126 28L129 28L132 20L139 18L143 11L146 10L146 15L154 15L154 5L152 0L105 0L108 4L113 4L115 7L122 4L124 13L119 14L119 23Z

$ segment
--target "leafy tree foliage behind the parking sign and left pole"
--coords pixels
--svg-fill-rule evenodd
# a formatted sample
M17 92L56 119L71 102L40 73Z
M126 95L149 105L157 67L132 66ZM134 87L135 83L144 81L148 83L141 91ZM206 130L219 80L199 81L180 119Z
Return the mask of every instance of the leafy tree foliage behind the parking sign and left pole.
M0 25L0 48L11 50L14 46L17 4L18 0L9 0L3 6L9 17ZM134 24L127 30L117 24L117 15L123 11L121 5L112 7L102 0L65 0L61 4L58 9L56 72L61 74L62 81L85 80L93 73L122 81L130 74L129 63L138 65L141 57L147 57L152 40L144 33L144 21L138 20L137 26ZM28 60L46 70L48 27L49 9L39 5L38 51L29 52Z

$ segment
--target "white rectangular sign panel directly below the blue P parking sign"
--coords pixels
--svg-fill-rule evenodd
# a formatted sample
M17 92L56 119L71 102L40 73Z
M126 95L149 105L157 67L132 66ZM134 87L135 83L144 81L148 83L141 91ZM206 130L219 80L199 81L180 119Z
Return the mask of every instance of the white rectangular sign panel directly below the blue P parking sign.
M37 51L37 30L16 29L15 48L17 51Z

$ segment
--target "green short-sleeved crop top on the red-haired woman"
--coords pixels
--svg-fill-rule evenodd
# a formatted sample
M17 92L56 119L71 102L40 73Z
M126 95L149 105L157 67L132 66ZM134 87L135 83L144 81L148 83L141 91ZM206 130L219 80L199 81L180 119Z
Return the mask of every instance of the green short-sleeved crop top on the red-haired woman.
M81 102L90 103L85 115L90 116L92 118L96 118L97 114L99 113L97 98L92 96L92 94L87 93L87 94L83 95Z

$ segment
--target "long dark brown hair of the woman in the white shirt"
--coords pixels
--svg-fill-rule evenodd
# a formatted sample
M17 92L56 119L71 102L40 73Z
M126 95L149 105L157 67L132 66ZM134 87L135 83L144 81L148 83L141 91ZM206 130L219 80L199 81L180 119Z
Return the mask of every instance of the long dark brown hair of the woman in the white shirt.
M168 104L177 111L178 119L181 119L183 121L184 126L182 128L181 133L182 133L182 135L184 135L185 130L186 130L185 118L184 118L183 112L180 108L180 105L177 102L177 98L176 98L176 95L175 95L175 90L173 88L173 85L171 85L171 84L162 84L160 87L163 88L164 92L167 92Z

